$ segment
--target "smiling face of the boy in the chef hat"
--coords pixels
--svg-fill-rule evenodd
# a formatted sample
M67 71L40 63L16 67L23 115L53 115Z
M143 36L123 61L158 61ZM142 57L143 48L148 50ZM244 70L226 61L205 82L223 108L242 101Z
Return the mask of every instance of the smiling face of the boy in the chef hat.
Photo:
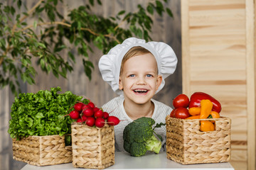
M126 102L144 104L151 100L162 81L156 59L151 53L129 58L119 77L119 89Z

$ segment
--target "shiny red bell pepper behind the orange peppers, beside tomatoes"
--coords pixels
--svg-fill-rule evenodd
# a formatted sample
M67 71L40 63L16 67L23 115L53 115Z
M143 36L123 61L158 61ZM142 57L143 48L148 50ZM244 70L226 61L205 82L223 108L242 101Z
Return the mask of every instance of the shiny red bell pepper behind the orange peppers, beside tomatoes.
M203 100L203 99L210 100L213 103L212 111L220 113L220 111L221 111L220 102L217 101L212 96L210 96L209 94L206 94L206 93L203 93L203 92L195 92L191 95L188 108L200 107L201 106L201 100Z

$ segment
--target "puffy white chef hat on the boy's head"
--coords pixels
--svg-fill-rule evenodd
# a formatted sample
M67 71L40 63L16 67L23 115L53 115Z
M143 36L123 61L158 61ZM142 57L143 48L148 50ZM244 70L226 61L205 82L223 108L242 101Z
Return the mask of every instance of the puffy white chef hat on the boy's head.
M122 44L112 47L107 55L103 55L99 61L99 68L102 78L112 87L113 91L121 95L122 90L119 90L119 73L124 55L132 48L141 46L149 50L154 55L159 70L159 75L163 77L159 89L163 89L166 77L173 74L176 69L177 57L174 50L164 42L146 42L138 38L127 38Z

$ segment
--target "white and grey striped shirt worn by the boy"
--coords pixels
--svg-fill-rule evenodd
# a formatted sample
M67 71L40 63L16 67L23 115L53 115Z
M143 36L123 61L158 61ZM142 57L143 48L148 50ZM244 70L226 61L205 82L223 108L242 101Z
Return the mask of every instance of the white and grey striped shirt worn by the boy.
M164 103L159 101L155 101L151 99L154 103L154 113L151 118L155 120L156 123L165 123L166 115L170 115L172 108L166 106ZM111 101L105 103L102 106L103 111L110 113L110 115L114 115L119 118L120 123L114 126L114 139L115 139L115 150L116 151L124 151L124 140L123 140L123 131L124 128L131 123L133 120L129 118L127 113L124 110L124 97L119 96L117 98L113 98ZM154 125L153 125L154 127ZM166 148L166 127L161 126L161 128L155 128L154 131L156 134L161 135L163 138L161 151L165 151Z

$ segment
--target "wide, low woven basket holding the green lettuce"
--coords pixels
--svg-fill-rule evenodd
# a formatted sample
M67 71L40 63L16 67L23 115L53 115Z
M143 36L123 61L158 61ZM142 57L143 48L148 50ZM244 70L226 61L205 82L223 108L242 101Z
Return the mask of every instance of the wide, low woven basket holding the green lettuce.
M13 139L14 159L36 166L72 162L72 147L65 146L65 136L29 136Z

